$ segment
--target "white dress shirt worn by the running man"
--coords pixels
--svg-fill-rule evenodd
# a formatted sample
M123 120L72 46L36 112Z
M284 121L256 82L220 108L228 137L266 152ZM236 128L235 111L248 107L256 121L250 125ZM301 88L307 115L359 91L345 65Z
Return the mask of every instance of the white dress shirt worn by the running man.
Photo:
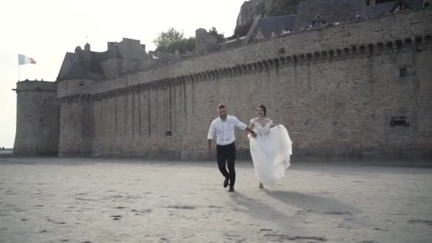
M222 146L232 144L235 141L234 127L244 130L247 128L247 125L239 121L237 117L227 116L225 121L217 117L210 124L207 139L213 139L216 136L216 144Z

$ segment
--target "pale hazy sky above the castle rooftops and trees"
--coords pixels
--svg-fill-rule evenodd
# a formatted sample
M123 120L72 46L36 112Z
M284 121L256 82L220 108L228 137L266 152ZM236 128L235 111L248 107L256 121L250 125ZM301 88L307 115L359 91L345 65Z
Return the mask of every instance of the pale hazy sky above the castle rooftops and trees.
M170 27L195 36L213 26L232 36L244 0L2 0L0 4L0 147L12 148L16 87L20 80L55 81L66 52L77 45L107 50L108 41L133 38L154 50L153 40ZM18 53L36 65L21 65Z

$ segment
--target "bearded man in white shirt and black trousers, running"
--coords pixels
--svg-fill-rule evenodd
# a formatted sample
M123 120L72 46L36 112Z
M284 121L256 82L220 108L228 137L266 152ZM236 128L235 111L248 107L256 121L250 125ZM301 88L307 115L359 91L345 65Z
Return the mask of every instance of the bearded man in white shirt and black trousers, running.
M239 129L249 131L252 136L257 136L252 129L249 129L246 124L239 121L237 117L227 115L227 106L225 104L219 104L217 106L217 112L219 112L219 117L212 121L210 124L210 129L207 135L207 148L210 153L212 147L213 137L216 136L216 159L217 166L219 166L219 171L224 175L224 188L228 186L229 191L234 191L235 183L235 136L234 127ZM228 171L226 168L228 166Z

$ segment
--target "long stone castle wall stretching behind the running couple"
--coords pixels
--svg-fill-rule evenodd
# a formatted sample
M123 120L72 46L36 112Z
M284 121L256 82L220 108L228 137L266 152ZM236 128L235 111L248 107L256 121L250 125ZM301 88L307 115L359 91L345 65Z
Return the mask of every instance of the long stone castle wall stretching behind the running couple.
M104 82L58 82L60 155L210 158L207 129L225 102L245 123L266 104L295 156L430 159L431 21L432 11L407 11ZM240 158L248 146L237 131Z

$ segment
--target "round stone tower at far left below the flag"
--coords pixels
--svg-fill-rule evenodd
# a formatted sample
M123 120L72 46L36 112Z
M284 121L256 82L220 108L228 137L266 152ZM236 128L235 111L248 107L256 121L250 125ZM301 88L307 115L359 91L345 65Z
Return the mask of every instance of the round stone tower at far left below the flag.
M13 153L56 155L60 107L55 82L18 82L16 96L16 136Z

